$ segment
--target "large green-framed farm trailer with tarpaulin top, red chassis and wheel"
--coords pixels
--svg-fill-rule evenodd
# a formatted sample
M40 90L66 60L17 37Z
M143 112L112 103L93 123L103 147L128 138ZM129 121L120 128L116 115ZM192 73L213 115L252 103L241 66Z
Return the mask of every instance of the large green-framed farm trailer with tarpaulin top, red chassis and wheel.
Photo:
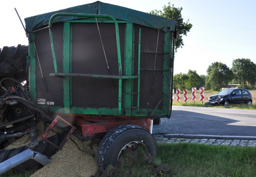
M57 122L82 141L100 134L102 171L138 144L156 156L150 132L171 116L176 21L97 1L25 23L34 105L16 100L52 121L43 138Z

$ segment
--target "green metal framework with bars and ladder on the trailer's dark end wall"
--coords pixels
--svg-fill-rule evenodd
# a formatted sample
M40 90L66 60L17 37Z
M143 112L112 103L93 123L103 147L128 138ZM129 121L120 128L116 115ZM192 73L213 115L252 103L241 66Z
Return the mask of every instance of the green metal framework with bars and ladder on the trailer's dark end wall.
M57 62L56 62L56 55L55 55L55 49L54 49L54 43L53 43L53 34L52 34L52 23L54 22L54 18L59 16L74 16L74 17L85 17L88 19L79 19L79 20L71 20L71 21L65 21L64 23L64 32L63 32L63 73L58 72ZM117 57L118 57L118 67L119 67L119 75L92 75L92 74L81 74L81 73L72 73L72 28L70 27L70 23L96 23L96 20L92 20L91 18L103 18L104 20L101 20L100 23L114 23L115 24L115 32L116 32L116 42L117 42ZM118 29L118 23L126 23L126 31L125 31L125 58L124 58L124 75L122 75L122 67L121 67L121 52L120 52L120 42L119 42L119 29ZM163 80L163 94L165 99L163 99L163 109L140 109L139 105L139 98L140 98L140 60L141 60L141 52L148 52L148 51L141 51L141 28L139 29L139 58L138 58L138 75L134 75L134 26L133 23L127 22L127 21L117 21L115 18L113 18L110 15L91 15L91 14L73 14L73 13L56 13L54 14L49 21L49 33L50 33L50 42L51 42L51 48L52 48L52 57L53 57L53 63L54 63L54 73L50 73L50 76L57 76L57 77L63 77L63 104L64 104L64 111L63 113L67 114L84 114L85 112L89 112L92 115L97 115L99 112L104 115L122 115L122 110L125 111L125 115L134 115L134 116L149 116L149 112L153 112L157 117L165 117L169 116L167 111L169 111L169 99L170 96L170 87L172 86L170 83L170 75L172 75L170 72L170 63L172 63L173 60L173 52L170 52L171 50L174 50L171 48L171 43L174 43L174 40L172 39L171 32L165 32L165 48L163 52L165 59L164 59L164 68L161 70L163 71L164 80ZM67 35L69 34L69 35ZM32 41L31 43L34 43ZM30 45L30 81L35 81L35 47L33 45ZM132 51L132 52L130 52ZM154 52L155 53L155 52ZM152 69L147 69L152 70ZM118 94L118 108L79 108L79 107L71 107L72 103L72 77L98 77L98 78L111 78L111 79L119 79L119 94ZM133 91L133 84L134 79L138 79L138 92L135 93ZM125 80L124 82L122 82ZM122 93L122 83L124 84L124 92ZM30 82L30 93L36 97L36 82ZM134 95L137 95L138 101L137 105L133 104L133 98ZM123 109L122 109L122 97L124 99L123 101ZM61 110L61 107L52 106L47 107L41 105L41 107L45 107L50 109L50 111L59 111ZM63 110L63 109L62 109Z

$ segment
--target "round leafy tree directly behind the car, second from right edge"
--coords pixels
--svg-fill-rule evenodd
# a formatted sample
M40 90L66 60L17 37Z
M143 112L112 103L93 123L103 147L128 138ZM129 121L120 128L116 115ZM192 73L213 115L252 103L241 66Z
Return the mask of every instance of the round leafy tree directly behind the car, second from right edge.
M206 70L206 87L211 90L220 90L221 87L228 86L228 82L232 80L233 72L226 64L214 62L209 65Z

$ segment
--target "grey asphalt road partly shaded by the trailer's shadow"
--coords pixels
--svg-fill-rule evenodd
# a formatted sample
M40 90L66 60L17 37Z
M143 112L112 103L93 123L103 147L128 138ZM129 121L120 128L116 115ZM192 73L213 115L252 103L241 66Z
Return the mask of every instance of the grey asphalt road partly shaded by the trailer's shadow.
M152 134L256 136L256 110L173 106Z

